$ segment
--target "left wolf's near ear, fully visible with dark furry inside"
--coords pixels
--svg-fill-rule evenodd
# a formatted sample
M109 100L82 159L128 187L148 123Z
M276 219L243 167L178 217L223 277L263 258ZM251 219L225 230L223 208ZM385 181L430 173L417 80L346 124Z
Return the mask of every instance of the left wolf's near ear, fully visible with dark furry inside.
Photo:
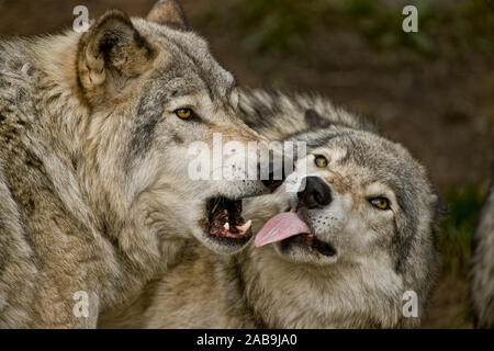
M155 50L122 11L104 13L80 38L78 80L85 91L121 90L146 71Z

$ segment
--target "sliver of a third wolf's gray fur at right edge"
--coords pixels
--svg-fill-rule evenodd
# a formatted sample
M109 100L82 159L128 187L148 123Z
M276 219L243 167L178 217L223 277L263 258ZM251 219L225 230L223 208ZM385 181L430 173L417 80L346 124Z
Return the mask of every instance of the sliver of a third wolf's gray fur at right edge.
M470 299L476 328L494 328L494 183L473 236Z

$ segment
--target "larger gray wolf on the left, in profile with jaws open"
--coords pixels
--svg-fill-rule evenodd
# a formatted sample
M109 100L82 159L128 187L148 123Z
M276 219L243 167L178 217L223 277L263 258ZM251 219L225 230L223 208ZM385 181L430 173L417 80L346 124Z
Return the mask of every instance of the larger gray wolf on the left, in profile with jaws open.
M247 242L210 235L209 206L239 213L266 185L191 181L187 150L216 132L260 137L175 1L147 20L114 10L86 33L2 41L0 87L0 327L96 327L183 238Z

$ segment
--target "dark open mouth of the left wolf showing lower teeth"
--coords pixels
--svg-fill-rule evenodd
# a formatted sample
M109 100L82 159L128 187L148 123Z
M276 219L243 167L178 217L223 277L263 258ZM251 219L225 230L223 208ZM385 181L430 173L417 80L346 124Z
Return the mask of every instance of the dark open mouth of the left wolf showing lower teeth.
M242 218L242 200L213 197L206 204L209 234L215 238L247 241L252 236L251 220Z

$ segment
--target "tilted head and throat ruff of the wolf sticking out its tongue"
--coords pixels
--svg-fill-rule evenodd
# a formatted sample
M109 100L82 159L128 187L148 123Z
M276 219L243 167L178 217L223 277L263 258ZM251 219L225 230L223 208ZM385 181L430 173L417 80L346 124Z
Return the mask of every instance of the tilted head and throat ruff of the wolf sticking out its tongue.
M438 197L424 168L368 131L328 125L296 137L308 152L295 171L276 193L245 201L261 247L249 260L256 279L304 306L300 324L287 315L271 322L416 326L437 268ZM405 318L414 293L418 317Z

